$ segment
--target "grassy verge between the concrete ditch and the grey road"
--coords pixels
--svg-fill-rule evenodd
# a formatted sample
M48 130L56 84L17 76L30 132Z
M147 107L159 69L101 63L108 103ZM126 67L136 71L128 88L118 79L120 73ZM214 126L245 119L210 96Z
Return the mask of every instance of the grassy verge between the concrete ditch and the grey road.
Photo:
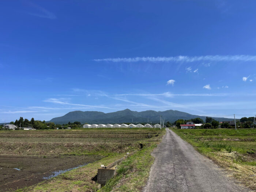
M100 192L108 191L142 191L145 186L154 157L151 152L161 142L165 130L158 137L151 139L142 150L125 159L118 165L117 174L110 179Z

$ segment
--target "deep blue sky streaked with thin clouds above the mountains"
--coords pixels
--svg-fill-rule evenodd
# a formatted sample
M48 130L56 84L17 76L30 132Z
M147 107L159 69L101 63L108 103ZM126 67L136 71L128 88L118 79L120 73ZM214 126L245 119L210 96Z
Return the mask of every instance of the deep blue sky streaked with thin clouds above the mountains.
M0 122L256 113L256 1L1 1Z

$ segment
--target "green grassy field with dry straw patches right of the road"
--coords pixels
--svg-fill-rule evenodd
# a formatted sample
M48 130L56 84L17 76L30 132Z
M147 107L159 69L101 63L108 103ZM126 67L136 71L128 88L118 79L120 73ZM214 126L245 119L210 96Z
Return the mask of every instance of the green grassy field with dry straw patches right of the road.
M256 190L256 129L172 129L229 176Z

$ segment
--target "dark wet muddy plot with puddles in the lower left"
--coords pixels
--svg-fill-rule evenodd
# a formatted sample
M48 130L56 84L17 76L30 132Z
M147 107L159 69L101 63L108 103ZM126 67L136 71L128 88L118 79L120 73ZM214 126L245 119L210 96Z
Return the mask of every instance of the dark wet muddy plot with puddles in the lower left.
M0 155L0 192L14 191L36 184L44 181L43 177L52 175L54 171L70 169L101 158L99 155Z

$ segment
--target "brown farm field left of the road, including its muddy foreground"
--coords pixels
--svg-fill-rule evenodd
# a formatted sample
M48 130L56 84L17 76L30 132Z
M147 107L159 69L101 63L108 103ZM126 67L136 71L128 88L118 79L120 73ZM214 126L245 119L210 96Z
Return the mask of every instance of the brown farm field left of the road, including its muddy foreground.
M140 143L147 146L159 133L152 128L0 131L0 191L28 190L28 186L48 182L44 177L55 171L100 159L114 161L138 150ZM95 185L91 178L86 182Z

